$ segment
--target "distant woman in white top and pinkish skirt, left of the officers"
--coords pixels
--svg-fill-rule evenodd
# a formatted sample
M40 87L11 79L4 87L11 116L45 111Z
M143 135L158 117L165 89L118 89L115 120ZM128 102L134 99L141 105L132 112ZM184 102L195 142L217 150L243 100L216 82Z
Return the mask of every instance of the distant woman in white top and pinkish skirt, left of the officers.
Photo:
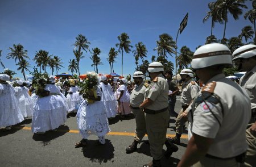
M130 94L127 90L127 86L125 78L120 80L120 86L118 87L117 91L120 91L120 95L117 98L118 107L121 114L121 118L131 113L130 110Z

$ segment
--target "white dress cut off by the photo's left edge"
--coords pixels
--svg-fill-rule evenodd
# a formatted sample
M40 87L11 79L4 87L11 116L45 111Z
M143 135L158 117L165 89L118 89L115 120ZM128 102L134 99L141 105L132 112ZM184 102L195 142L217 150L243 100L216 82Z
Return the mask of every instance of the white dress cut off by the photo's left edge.
M24 120L16 101L14 87L0 83L0 127L8 127Z

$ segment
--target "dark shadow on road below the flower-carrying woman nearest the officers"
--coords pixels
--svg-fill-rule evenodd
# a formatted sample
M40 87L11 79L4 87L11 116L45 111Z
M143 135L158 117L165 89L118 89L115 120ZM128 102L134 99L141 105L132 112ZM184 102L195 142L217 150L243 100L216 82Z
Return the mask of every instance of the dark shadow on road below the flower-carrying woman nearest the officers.
M106 139L106 144L99 145L98 140L86 140L87 145L82 147L82 152L90 161L98 164L106 163L114 158L114 146L111 141ZM114 160L112 161L114 162Z

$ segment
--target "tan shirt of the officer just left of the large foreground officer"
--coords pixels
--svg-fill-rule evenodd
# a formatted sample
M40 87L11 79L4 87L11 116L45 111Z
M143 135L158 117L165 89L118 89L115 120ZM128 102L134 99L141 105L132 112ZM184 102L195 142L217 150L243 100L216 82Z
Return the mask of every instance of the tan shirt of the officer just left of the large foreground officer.
M183 85L183 90L181 93L181 105L189 105L189 103L192 101L193 98L195 98L199 90L199 85L195 81L192 81L192 79L186 82Z

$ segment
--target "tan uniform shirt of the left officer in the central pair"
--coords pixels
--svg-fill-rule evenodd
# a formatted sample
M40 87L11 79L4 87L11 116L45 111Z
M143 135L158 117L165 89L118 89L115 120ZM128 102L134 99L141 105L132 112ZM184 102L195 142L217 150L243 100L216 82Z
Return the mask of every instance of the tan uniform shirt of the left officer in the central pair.
M144 101L144 94L145 94L146 86L148 86L146 84L147 83L145 83L145 81L143 81L141 83L141 85L136 85L134 87L134 89L130 95L130 105L132 107L139 107L139 105L141 105L141 103Z

